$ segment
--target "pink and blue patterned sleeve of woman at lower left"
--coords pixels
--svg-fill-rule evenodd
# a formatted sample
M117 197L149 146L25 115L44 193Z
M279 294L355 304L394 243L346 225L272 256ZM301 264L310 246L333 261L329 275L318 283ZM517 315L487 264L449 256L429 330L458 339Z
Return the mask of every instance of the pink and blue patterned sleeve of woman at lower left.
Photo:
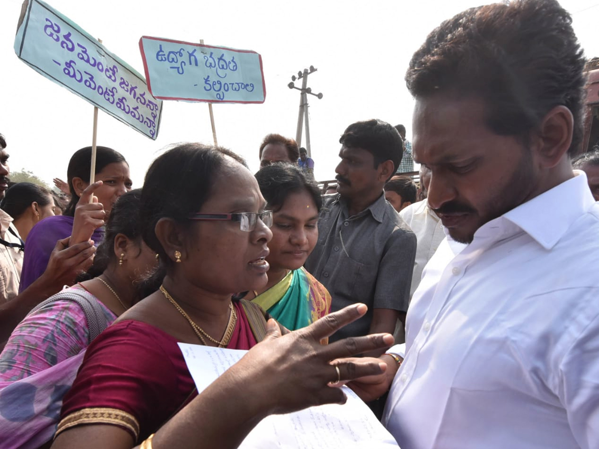
M16 381L44 371L87 347L87 321L74 301L47 304L13 330L0 354L0 380Z

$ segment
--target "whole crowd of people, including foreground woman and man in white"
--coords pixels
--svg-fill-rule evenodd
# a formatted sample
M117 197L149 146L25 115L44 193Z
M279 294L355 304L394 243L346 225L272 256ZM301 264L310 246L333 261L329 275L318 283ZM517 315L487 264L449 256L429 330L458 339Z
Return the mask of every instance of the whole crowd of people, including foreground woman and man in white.
M412 142L347 126L334 193L269 134L256 174L184 143L135 190L81 148L62 211L8 189L0 135L0 446L235 448L346 385L403 449L599 447L584 63L555 0L446 20L407 69ZM247 353L198 391L180 342Z

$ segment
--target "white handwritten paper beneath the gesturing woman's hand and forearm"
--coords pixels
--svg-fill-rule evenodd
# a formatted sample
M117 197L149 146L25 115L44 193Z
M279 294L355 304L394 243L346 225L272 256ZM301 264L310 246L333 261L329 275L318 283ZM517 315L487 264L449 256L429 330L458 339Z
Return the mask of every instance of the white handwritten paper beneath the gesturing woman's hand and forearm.
M247 352L185 343L179 343L179 347L198 392ZM320 405L285 415L271 415L247 435L240 448L397 448L391 433L374 417L368 406L352 390L343 389L347 395L346 404Z

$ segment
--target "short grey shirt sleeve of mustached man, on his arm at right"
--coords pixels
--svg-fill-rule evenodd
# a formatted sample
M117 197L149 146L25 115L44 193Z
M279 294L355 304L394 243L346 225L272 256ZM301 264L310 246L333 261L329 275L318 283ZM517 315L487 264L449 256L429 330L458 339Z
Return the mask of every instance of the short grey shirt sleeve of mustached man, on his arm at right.
M374 308L405 312L416 258L416 235L411 230L396 229L386 245L379 263Z

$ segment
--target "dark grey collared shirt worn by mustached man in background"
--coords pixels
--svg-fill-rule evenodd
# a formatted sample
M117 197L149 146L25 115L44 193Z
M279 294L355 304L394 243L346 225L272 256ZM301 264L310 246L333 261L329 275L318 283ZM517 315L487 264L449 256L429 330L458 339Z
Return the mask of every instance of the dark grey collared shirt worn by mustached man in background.
M340 195L323 200L318 243L304 265L331 293L331 311L356 302L368 306L329 341L367 335L374 308L407 310L416 235L385 195L352 217Z

